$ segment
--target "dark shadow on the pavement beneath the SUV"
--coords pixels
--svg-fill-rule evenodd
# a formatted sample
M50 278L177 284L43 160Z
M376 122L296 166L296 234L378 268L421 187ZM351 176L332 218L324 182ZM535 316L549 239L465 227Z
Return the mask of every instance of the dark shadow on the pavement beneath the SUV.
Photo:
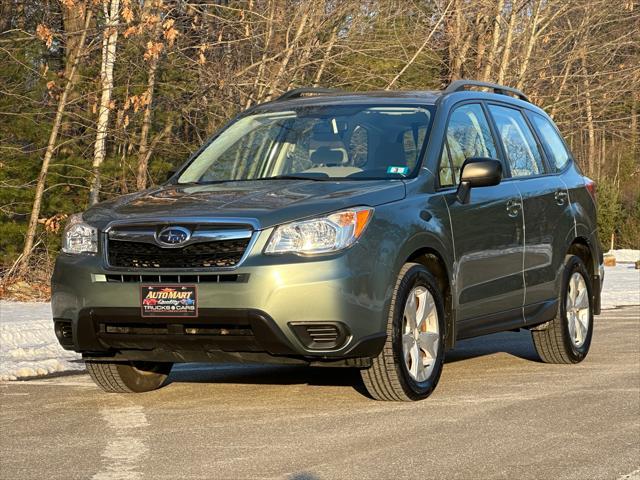
M528 331L504 332L462 340L447 352L445 363L471 360L505 353L531 362L540 362ZM225 363L177 364L167 383L240 383L253 385L317 385L353 387L368 396L360 374L353 368Z

